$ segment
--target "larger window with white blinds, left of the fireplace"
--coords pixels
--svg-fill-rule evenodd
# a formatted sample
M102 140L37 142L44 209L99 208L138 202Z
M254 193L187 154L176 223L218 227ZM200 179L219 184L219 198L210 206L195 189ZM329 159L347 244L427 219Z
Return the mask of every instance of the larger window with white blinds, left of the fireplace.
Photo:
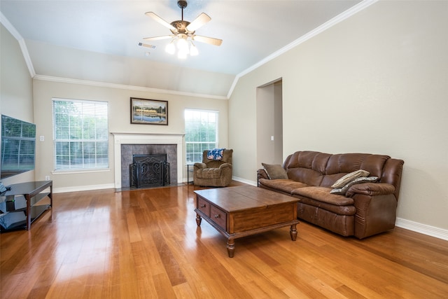
M107 102L53 99L55 169L109 167Z

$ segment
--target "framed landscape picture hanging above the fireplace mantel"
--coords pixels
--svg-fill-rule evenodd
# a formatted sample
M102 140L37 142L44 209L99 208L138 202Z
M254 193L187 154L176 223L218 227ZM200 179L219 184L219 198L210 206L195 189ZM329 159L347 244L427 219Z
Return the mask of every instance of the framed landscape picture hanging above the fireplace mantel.
M131 123L168 125L168 101L131 97Z

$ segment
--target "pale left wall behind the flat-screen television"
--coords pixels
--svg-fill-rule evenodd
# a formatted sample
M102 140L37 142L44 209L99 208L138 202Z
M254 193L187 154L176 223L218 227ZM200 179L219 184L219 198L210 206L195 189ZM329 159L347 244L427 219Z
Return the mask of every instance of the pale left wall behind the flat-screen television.
M33 82L18 41L0 24L0 114L34 123ZM1 180L4 185L33 181L34 171Z

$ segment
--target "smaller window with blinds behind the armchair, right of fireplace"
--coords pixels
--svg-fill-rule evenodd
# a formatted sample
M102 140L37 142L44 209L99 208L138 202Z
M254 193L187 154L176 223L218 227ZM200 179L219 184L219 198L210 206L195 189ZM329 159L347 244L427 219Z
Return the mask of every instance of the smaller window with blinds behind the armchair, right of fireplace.
M185 110L187 164L202 162L202 152L218 147L218 112Z

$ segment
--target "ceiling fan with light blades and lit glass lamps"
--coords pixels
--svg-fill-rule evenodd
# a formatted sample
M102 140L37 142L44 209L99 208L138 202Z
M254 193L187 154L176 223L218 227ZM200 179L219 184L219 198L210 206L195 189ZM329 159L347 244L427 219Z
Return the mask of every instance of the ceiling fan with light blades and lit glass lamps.
M183 20L183 8L187 7L187 1L177 1L177 5L179 8L182 9L182 20L176 20L171 23L163 20L158 15L153 13L152 11L145 13L145 15L148 15L149 17L153 18L155 21L159 22L163 26L167 27L172 34L165 35L165 36L154 36L154 37L146 37L144 38L145 41L157 41L160 39L172 39L172 41L167 45L165 50L170 53L174 54L176 47L174 46L176 44L177 48L179 49L178 56L179 58L185 58L186 55L197 55L197 49L195 47L195 44L193 41L199 41L201 43L209 43L214 46L221 46L221 43L223 42L222 39L214 39L212 37L207 36L200 36L196 35L196 29L202 27L202 25L206 24L211 20L209 15L206 13L201 13L193 22L188 22L186 20ZM191 47L189 47L188 42L191 43Z

